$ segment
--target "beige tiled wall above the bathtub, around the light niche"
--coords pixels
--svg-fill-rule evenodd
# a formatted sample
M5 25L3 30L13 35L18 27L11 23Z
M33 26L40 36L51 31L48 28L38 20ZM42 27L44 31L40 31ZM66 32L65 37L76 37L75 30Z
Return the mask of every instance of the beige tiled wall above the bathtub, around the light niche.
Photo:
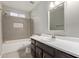
M9 15L3 15L3 39L4 41L27 38L30 32L28 20L29 19L13 17ZM22 23L23 28L14 28L13 27L14 23Z

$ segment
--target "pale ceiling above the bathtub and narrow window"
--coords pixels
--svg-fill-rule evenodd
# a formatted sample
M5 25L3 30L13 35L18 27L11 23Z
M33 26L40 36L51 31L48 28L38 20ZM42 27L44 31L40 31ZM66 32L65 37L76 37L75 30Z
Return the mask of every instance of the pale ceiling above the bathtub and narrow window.
M1 3L6 8L29 12L38 4L38 1L2 1Z

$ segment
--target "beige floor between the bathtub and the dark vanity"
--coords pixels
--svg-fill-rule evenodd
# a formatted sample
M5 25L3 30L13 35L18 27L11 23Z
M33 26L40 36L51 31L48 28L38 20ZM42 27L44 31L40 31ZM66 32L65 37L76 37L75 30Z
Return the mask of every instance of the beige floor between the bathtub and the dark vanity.
M26 48L21 48L18 51L3 54L2 58L32 58L31 52L25 52Z

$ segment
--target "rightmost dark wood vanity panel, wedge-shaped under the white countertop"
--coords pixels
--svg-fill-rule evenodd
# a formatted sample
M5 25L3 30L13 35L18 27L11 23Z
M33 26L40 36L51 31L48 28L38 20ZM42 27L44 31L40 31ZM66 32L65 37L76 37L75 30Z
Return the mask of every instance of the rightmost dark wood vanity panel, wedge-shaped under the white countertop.
M74 56L55 49L55 58L74 58Z

